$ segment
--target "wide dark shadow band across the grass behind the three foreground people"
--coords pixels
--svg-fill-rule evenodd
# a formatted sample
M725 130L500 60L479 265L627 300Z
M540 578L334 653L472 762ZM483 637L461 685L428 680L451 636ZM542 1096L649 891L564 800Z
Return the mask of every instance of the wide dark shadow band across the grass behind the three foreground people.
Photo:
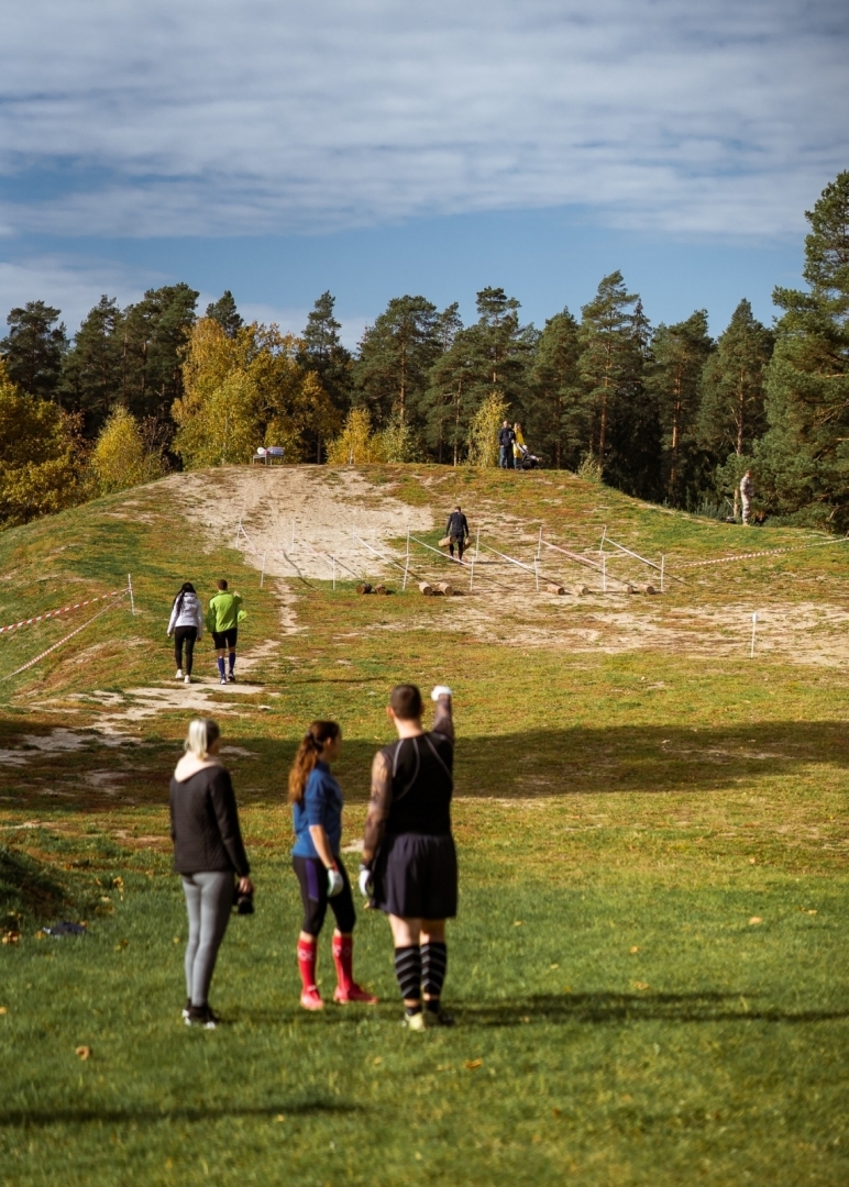
M357 678L356 683L365 681ZM342 719L343 729L344 725ZM224 744L243 747L252 755L229 760L240 802L279 805L297 740L258 738L237 730L236 722L222 721ZM388 735L386 741L391 741ZM375 742L346 738L335 772L349 802L368 799L376 748ZM104 764L114 766L121 775L127 802L160 805L167 795L180 747L153 742L138 756L129 750L120 756L107 755L96 743L70 756L21 753L27 756L26 767L15 767L13 773L0 772L7 802L38 807L45 804L38 796L50 794L50 813L56 815L63 811L102 812L123 802L122 792L109 793L108 798L90 785L84 786L87 772L102 772ZM463 796L507 800L608 792L701 794L822 764L849 768L849 734L841 722L764 722L716 728L581 725L488 737L463 737L461 732L455 789ZM44 780L50 782L50 793L44 791Z

